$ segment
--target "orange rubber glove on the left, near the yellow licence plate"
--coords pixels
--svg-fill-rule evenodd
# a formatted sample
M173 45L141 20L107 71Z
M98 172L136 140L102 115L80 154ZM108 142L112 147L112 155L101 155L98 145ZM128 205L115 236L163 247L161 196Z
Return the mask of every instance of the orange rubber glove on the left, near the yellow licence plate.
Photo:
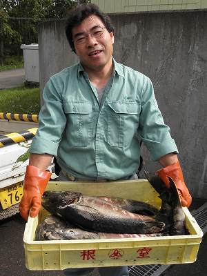
M19 204L21 217L28 220L30 217L36 217L41 208L41 196L46 189L52 173L46 170L40 170L34 166L27 166L24 178L23 197Z

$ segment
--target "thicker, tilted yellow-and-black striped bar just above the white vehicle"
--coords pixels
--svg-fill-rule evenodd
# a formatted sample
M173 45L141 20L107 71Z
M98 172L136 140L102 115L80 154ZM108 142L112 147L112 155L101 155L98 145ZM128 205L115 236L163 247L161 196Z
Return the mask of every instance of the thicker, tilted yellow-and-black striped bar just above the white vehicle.
M21 132L12 132L0 137L0 148L11 144L19 143L32 139L37 132L37 128L22 130Z

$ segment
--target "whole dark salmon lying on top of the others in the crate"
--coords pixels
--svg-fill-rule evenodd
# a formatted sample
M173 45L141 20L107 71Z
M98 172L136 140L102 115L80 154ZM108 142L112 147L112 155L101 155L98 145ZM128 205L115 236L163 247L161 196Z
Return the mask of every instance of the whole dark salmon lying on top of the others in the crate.
M163 221L124 210L99 197L71 191L46 191L42 205L83 230L101 233L152 234L165 228Z

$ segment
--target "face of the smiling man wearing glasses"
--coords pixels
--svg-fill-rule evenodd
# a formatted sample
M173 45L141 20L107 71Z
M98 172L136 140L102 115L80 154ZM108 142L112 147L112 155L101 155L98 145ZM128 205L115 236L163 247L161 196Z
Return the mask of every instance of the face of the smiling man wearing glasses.
M97 26L105 27L103 22L96 15L91 15L84 19L79 26L72 28L72 38L75 39L75 51L81 63L87 71L102 70L111 66L114 35L103 29L101 37L92 37L91 33ZM79 44L76 38L89 34L84 43Z

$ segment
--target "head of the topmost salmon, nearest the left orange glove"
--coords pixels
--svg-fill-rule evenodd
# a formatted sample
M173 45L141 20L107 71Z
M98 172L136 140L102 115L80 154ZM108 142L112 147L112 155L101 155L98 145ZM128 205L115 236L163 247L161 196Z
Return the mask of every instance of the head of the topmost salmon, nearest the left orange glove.
M73 191L50 191L47 190L43 193L41 204L43 208L52 214L56 214L59 208L74 204L79 201L81 193Z

